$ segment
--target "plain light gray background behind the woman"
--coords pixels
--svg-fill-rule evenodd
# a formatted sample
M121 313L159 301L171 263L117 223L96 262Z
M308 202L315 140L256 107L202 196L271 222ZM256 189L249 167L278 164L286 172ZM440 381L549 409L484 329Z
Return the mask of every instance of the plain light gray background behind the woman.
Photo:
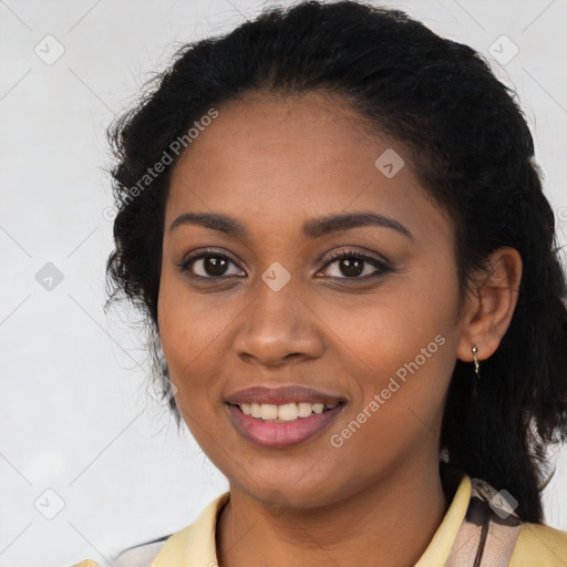
M566 1L383 3L480 50L517 90L565 233ZM147 394L136 313L102 311L112 246L104 128L179 42L227 31L261 7L0 0L2 566L109 565L121 548L188 525L227 488ZM519 51L499 64L493 55L502 63L514 49L503 34ZM48 262L63 276L52 290L35 279ZM567 530L565 450L557 465L546 520Z

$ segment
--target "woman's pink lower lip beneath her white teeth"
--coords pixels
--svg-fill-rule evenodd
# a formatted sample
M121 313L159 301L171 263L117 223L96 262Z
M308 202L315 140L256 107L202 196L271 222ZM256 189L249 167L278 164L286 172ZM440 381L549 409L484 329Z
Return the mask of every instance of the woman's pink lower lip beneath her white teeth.
M302 443L324 430L342 411L340 403L323 413L312 413L309 417L295 421L260 421L243 413L238 406L228 405L233 423L238 432L248 441L262 447L289 447Z

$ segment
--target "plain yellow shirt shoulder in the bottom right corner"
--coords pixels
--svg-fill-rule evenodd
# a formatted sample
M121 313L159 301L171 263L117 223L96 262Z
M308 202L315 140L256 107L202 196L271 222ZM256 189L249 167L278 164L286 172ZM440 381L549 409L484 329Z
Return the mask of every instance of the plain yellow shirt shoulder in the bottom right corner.
M511 567L564 567L567 565L567 532L543 524L523 523Z

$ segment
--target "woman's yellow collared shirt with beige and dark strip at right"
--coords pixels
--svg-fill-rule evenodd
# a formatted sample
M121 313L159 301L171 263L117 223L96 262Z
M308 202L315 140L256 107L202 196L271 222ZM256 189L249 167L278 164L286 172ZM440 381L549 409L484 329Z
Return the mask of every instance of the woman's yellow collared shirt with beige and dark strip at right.
M502 492L460 473L451 505L415 567L566 567L567 533L522 523ZM186 528L118 555L116 567L217 567L216 523L224 493ZM95 567L83 561L74 567Z

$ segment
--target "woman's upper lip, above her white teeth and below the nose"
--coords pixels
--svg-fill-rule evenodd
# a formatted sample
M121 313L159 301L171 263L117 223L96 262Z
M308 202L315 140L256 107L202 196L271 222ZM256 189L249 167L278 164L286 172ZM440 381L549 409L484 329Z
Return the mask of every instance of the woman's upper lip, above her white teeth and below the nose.
M226 398L227 402L233 405L243 403L269 403L275 405L284 405L286 403L322 403L324 405L334 405L344 401L338 395L332 395L302 385L284 385L284 386L265 386L254 385L238 390Z

